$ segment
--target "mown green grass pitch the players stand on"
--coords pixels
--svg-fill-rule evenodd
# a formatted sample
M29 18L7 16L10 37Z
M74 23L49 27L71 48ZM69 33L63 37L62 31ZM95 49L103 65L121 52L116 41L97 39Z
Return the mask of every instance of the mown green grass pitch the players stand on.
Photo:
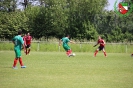
M14 51L0 51L0 88L133 88L133 57L126 53L33 52L27 68L12 69Z

